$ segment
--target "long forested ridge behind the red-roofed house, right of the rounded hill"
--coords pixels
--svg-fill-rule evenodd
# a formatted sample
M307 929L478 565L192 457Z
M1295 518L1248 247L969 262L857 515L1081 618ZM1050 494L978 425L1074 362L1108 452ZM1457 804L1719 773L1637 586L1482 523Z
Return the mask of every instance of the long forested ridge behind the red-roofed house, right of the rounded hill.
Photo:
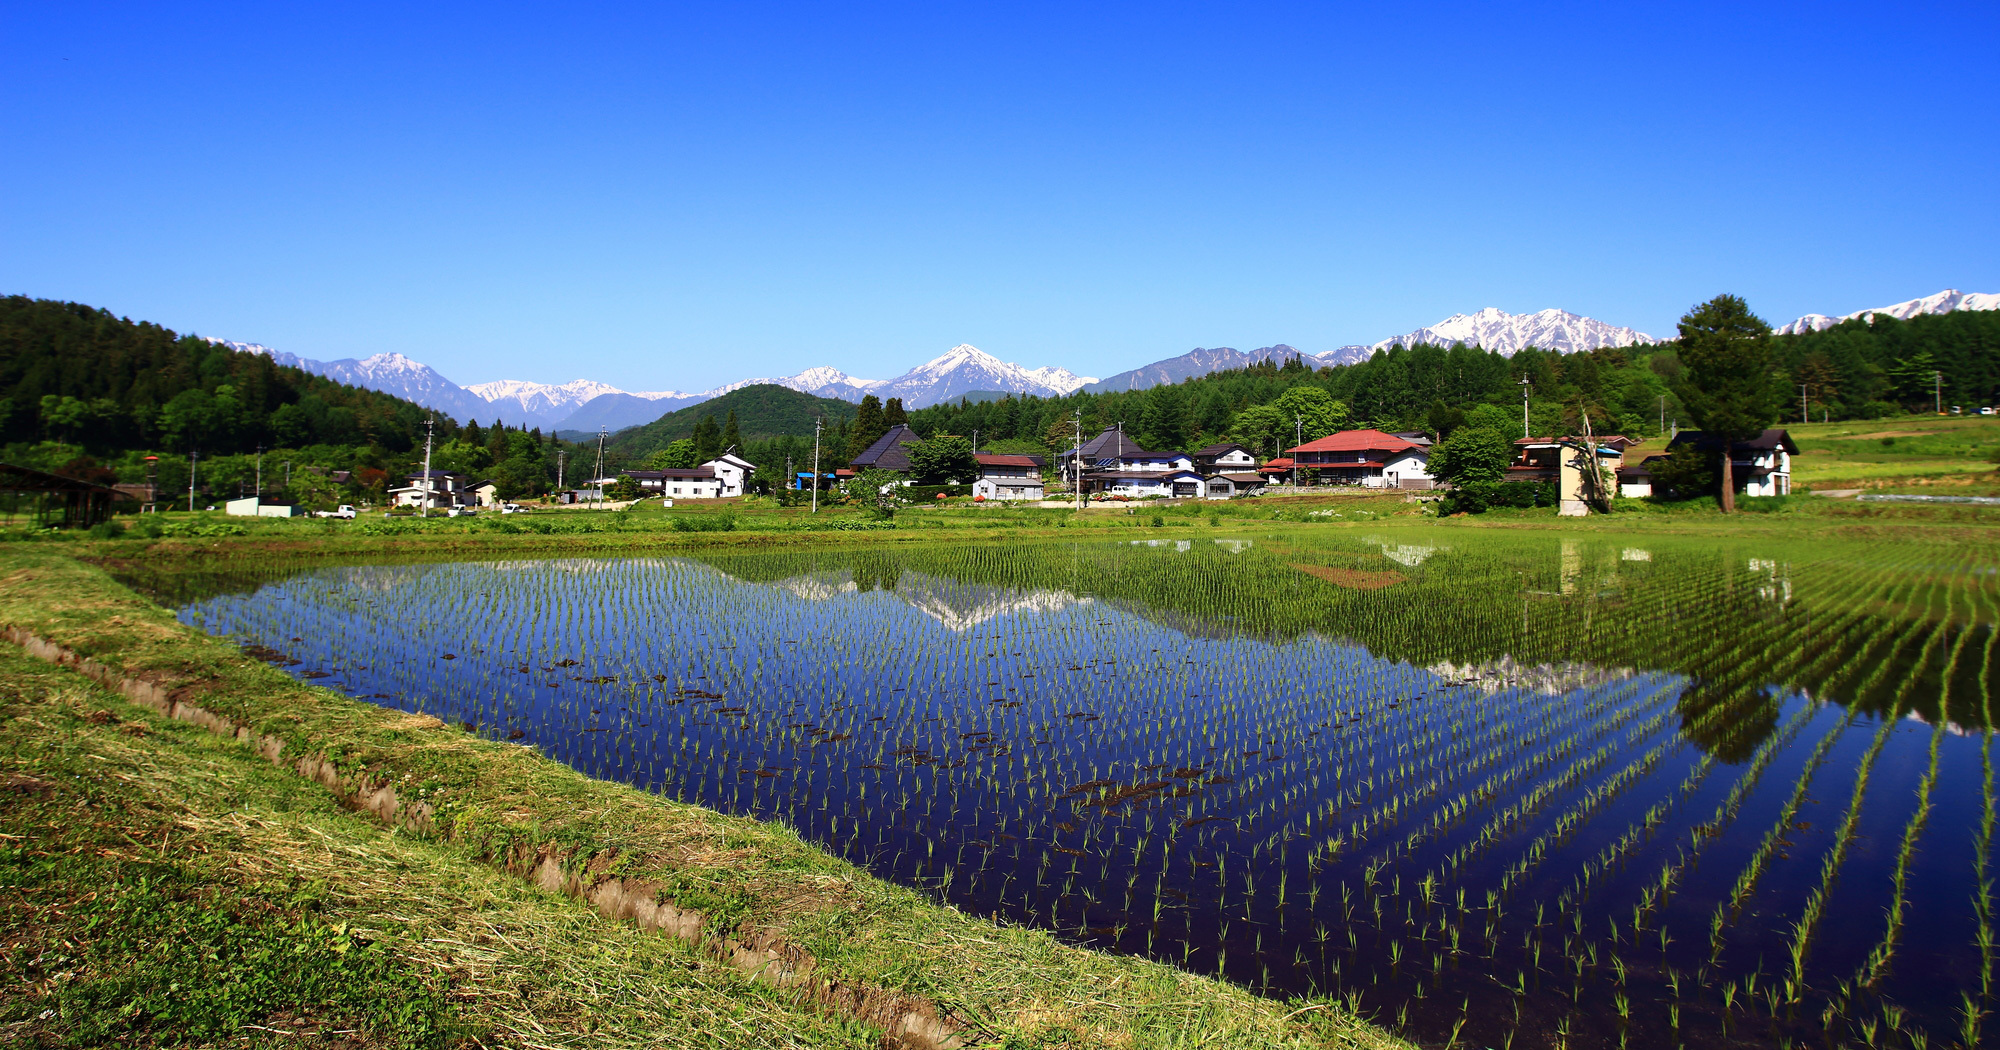
M1528 348L1506 358L1468 346L1396 346L1336 368L1262 362L1148 390L960 400L912 412L910 426L924 436L976 430L982 446L1018 440L1060 450L1068 448L1082 412L1086 436L1122 424L1146 448L1188 450L1228 438L1276 456L1294 444L1300 408L1326 398L1340 402L1344 414L1318 418L1340 426L1436 432L1470 418L1518 432L1526 378L1538 434L1572 430L1588 412L1600 434L1650 436L1662 422L1688 426L1672 394L1680 376L1676 350L1674 342L1582 354ZM1824 332L1776 336L1772 368L1768 394L1780 406L1780 420L1798 418L1800 384L1812 418L1928 410L1934 372L1942 372L1946 410L2000 404L2000 312L1882 316L1872 324L1850 320Z

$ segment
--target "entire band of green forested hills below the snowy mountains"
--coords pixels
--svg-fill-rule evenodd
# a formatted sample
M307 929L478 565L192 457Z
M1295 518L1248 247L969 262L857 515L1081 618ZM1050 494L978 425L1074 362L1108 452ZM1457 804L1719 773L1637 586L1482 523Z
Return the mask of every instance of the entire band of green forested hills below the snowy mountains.
M1740 300L1734 300L1740 306ZM1748 314L1746 314L1748 318ZM1760 326L1756 318L1748 318ZM2000 312L1850 320L1824 332L1758 340L1758 368L1730 380L1776 424L1878 418L1906 410L1976 410L2000 400ZM1658 436L1698 426L1684 404L1690 370L1680 342L1584 354L1468 346L1394 346L1338 368L1298 360L1214 372L1150 390L1002 396L906 412L772 384L734 390L628 428L604 448L604 472L694 466L736 446L760 466L758 486L808 470L820 420L820 464L844 466L890 426L978 436L982 450L1056 452L1078 428L1124 426L1146 448L1194 450L1236 440L1274 458L1350 426L1458 428L1518 434L1522 396L1536 434ZM1522 382L1526 380L1526 382ZM1676 394L1678 392L1678 394ZM414 470L434 414L390 394L346 386L262 354L244 354L158 324L74 302L0 298L0 442L6 462L100 482L188 490L198 502L264 492L308 506L380 498ZM576 486L598 466L596 442L436 416L432 464L492 478L506 498ZM158 460L148 462L148 456Z

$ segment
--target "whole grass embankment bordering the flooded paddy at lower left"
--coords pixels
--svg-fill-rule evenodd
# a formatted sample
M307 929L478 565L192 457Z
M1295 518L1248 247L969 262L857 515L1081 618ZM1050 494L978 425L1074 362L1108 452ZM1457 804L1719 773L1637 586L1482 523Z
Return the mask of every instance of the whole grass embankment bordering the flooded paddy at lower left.
M966 1046L1402 1046L304 686L70 550L0 554L0 622L240 734L0 644L14 1042L870 1046L934 1010Z

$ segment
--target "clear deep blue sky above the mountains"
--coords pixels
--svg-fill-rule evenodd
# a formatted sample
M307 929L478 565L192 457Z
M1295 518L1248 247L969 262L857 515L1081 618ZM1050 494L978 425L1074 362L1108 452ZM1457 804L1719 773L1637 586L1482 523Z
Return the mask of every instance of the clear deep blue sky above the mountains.
M1992 2L332 8L8 0L0 294L700 390L2000 290Z

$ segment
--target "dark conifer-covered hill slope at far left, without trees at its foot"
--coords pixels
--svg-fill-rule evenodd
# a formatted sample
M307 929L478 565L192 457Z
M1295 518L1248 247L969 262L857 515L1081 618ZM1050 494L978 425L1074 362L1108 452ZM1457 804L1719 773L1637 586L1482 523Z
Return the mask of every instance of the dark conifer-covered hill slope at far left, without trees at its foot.
M90 452L424 444L418 404L78 302L0 298L0 440ZM438 438L458 432L440 418Z

